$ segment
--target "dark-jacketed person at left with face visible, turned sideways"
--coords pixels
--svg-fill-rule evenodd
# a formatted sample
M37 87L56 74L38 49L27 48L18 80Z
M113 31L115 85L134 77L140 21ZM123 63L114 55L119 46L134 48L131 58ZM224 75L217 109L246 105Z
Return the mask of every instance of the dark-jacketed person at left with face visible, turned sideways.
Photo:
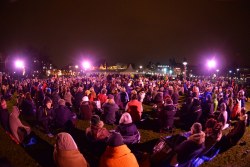
M44 105L39 108L37 113L37 120L40 125L44 128L45 133L48 137L53 137L51 134L54 119L54 110L52 108L52 100L45 98Z

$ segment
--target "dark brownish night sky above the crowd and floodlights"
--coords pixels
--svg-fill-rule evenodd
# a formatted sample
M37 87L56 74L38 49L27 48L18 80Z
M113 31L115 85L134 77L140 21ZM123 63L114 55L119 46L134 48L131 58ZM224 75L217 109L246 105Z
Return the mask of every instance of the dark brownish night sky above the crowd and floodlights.
M0 52L34 47L54 63L145 64L170 58L250 65L250 3L241 0L1 0Z

